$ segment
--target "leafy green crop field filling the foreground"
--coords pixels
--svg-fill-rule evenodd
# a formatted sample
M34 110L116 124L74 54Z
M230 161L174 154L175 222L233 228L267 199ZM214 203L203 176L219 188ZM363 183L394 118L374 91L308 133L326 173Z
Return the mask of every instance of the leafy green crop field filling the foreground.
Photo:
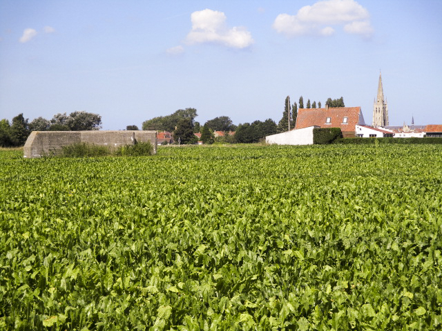
M440 330L442 146L0 150L1 330Z

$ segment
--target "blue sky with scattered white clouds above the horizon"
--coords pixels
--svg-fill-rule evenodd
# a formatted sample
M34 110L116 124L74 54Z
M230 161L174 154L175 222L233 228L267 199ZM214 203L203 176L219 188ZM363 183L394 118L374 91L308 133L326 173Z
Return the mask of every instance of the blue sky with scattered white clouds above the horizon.
M0 0L0 119L77 110L119 130L282 117L285 97L343 97L372 123L441 124L442 1Z

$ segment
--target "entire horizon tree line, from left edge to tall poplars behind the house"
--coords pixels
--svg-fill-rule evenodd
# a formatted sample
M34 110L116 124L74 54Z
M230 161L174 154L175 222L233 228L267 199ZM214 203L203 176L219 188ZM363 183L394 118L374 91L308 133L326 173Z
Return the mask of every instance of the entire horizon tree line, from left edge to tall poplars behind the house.
M340 99L328 98L325 102L330 108L345 107L343 97ZM310 102L307 99L306 108L321 108L318 101ZM251 123L233 124L230 117L220 116L210 119L201 126L195 117L198 116L195 108L180 109L173 114L154 117L142 123L142 130L158 130L172 132L173 140L180 143L196 143L198 137L195 133L201 133L203 143L213 143L215 141L227 143L256 143L271 134L285 132L295 128L298 108L304 108L302 96L298 103L290 104L290 98L285 99L282 118L276 124L272 119L265 121L253 121ZM23 114L18 114L9 123L8 119L0 121L0 146L23 146L32 131L79 131L79 130L99 130L102 127L102 117L99 114L90 112L72 112L55 114L52 119L37 117L28 121ZM126 130L138 130L138 127L126 126ZM226 132L223 137L215 138L215 131ZM234 133L232 133L234 132Z

